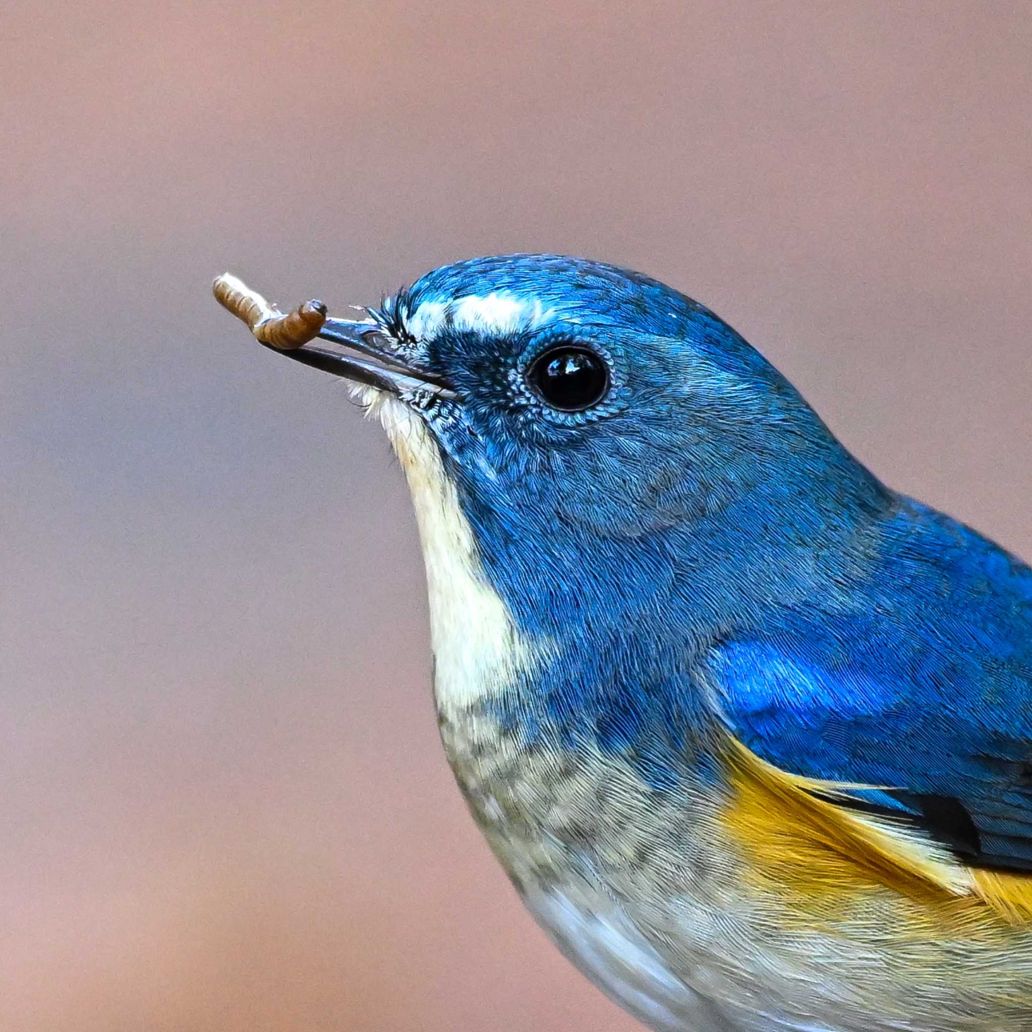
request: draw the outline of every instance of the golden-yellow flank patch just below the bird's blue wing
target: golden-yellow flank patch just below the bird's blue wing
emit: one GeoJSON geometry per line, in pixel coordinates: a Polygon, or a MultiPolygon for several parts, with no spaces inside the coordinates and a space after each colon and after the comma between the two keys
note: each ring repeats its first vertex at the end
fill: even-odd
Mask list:
{"type": "Polygon", "coordinates": [[[788,774],[733,738],[728,744],[723,823],[759,878],[824,897],[877,885],[923,898],[975,891],[974,872],[920,834],[813,795],[841,795],[848,785],[788,774]]]}

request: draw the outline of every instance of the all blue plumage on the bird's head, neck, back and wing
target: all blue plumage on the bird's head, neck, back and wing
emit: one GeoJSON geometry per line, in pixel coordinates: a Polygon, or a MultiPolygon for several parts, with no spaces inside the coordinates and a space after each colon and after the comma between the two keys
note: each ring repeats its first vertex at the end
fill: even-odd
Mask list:
{"type": "Polygon", "coordinates": [[[479,259],[380,318],[405,338],[424,302],[491,294],[547,316],[503,333],[445,317],[421,346],[466,399],[438,437],[485,575],[521,631],[563,643],[497,702],[506,724],[623,752],[663,786],[725,720],[953,844],[924,797],[957,800],[969,859],[1032,866],[1032,571],[881,485],[738,333],[646,277],[479,259]],[[566,338],[612,363],[600,412],[511,390],[566,338]]]}

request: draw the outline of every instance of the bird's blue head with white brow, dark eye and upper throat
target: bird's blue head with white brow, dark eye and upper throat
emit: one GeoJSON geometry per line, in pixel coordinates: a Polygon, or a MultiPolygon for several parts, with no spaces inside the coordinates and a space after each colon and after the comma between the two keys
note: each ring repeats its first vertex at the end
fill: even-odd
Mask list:
{"type": "Polygon", "coordinates": [[[370,317],[341,336],[367,357],[337,372],[406,470],[431,605],[464,567],[538,632],[675,595],[719,616],[786,590],[772,556],[812,551],[877,491],[738,333],[647,277],[474,259],[370,317]]]}

